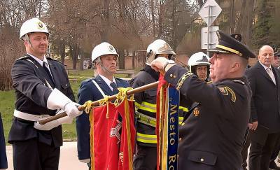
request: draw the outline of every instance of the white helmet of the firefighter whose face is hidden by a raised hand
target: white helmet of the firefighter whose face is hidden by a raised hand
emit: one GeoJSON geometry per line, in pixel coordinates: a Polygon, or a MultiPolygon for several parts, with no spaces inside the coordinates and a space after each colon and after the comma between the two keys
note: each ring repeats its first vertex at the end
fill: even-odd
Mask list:
{"type": "Polygon", "coordinates": [[[151,65],[151,62],[155,59],[156,55],[164,55],[167,54],[169,55],[169,59],[171,58],[172,55],[176,55],[176,53],[172,50],[170,45],[161,40],[155,40],[153,43],[148,45],[147,48],[147,57],[146,57],[146,64],[151,65]]]}

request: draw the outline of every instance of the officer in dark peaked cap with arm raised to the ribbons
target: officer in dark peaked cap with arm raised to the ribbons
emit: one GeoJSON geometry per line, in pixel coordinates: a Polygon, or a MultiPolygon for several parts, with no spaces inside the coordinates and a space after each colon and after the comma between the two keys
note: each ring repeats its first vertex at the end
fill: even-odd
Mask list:
{"type": "Polygon", "coordinates": [[[180,129],[179,169],[237,170],[249,120],[251,90],[244,72],[248,57],[255,57],[245,45],[217,31],[219,43],[209,60],[207,84],[177,64],[159,57],[151,66],[165,72],[165,80],[184,97],[199,105],[180,129]]]}

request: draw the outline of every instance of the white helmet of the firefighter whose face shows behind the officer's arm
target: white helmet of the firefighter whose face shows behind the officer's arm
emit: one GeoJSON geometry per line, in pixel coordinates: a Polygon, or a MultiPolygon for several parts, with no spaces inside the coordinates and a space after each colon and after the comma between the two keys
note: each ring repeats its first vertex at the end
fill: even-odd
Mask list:
{"type": "Polygon", "coordinates": [[[190,56],[188,59],[188,66],[190,66],[190,72],[195,73],[196,66],[210,66],[209,56],[204,54],[204,52],[197,52],[190,56]]]}

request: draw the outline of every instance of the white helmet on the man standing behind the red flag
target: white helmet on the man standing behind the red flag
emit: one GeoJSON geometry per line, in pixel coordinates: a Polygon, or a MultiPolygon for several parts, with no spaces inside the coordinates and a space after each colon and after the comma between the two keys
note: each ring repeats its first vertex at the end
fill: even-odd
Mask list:
{"type": "Polygon", "coordinates": [[[102,55],[116,55],[118,57],[118,53],[116,49],[113,47],[113,45],[103,42],[99,45],[96,45],[92,50],[92,62],[94,62],[95,59],[102,55]]]}

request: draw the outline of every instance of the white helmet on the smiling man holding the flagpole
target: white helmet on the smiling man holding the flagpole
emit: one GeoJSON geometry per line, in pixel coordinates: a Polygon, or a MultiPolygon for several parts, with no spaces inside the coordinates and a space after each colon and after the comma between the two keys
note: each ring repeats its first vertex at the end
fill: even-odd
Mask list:
{"type": "Polygon", "coordinates": [[[45,24],[41,22],[41,20],[39,20],[37,17],[23,22],[22,27],[20,27],[20,40],[22,40],[22,37],[25,36],[25,34],[32,32],[43,32],[45,34],[48,34],[48,36],[50,34],[45,24]]]}

